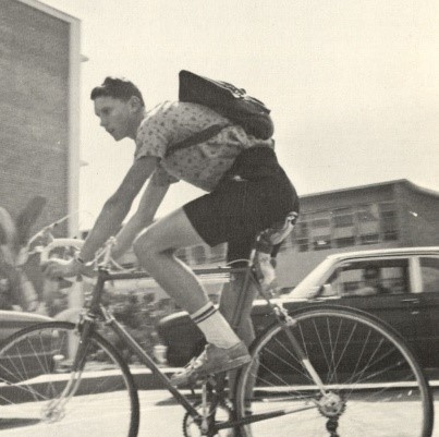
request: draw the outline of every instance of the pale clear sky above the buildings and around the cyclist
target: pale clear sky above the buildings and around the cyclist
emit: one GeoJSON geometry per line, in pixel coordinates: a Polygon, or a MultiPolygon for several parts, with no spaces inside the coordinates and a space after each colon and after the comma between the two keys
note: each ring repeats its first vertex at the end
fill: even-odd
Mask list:
{"type": "MultiPolygon", "coordinates": [[[[101,128],[90,89],[125,76],[147,108],[178,73],[231,82],[271,109],[300,195],[407,179],[439,192],[437,0],[44,0],[81,20],[80,227],[133,162],[101,128]],[[93,187],[93,190],[90,190],[93,187]]],[[[178,183],[158,216],[202,192],[178,183]]]]}

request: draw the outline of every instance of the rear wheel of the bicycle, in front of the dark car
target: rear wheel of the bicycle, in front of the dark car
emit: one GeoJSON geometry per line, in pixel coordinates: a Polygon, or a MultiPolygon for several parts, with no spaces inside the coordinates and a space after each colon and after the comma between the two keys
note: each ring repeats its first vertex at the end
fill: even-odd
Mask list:
{"type": "Polygon", "coordinates": [[[244,436],[269,436],[273,427],[278,435],[301,437],[431,436],[428,384],[392,328],[334,306],[292,318],[255,341],[253,361],[241,372],[237,416],[276,417],[243,426],[244,436]]]}

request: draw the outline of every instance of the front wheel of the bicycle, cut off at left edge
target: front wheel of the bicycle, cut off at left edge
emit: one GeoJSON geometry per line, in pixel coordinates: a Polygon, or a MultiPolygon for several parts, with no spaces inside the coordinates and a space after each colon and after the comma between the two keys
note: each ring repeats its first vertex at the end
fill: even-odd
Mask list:
{"type": "Polygon", "coordinates": [[[114,347],[90,335],[82,372],[72,372],[78,333],[70,323],[25,328],[0,348],[2,436],[135,437],[138,397],[114,347]]]}

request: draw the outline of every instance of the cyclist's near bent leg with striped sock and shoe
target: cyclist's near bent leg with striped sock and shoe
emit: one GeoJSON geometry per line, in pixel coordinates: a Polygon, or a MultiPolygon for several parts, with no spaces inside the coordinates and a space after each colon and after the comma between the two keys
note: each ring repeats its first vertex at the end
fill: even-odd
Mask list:
{"type": "Polygon", "coordinates": [[[175,256],[180,247],[203,243],[182,208],[151,224],[134,242],[141,265],[190,313],[208,342],[204,354],[173,377],[175,385],[225,372],[249,361],[246,347],[209,301],[194,272],[175,256]]]}

